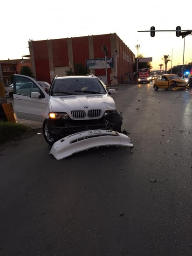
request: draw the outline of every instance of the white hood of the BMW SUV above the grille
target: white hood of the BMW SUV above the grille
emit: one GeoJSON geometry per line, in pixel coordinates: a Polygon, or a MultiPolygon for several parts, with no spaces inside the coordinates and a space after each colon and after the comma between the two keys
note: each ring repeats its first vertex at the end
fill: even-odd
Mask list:
{"type": "Polygon", "coordinates": [[[82,109],[116,109],[115,102],[108,94],[105,95],[72,95],[65,97],[49,97],[49,110],[53,112],[70,112],[82,109]]]}

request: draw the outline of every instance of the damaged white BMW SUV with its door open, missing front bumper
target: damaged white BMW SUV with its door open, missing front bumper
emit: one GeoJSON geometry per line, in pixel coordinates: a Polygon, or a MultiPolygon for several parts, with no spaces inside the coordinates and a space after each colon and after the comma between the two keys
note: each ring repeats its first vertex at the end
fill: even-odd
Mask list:
{"type": "Polygon", "coordinates": [[[121,131],[122,115],[96,76],[55,77],[49,94],[31,77],[14,75],[14,105],[17,118],[43,122],[48,144],[70,134],[95,129],[121,131]],[[25,86],[17,87],[17,83],[25,86]]]}

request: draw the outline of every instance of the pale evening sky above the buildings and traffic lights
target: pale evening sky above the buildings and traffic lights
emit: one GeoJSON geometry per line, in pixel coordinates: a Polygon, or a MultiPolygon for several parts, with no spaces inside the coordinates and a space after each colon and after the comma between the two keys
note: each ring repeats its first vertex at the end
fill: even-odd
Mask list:
{"type": "Polygon", "coordinates": [[[9,0],[0,2],[0,60],[21,59],[29,55],[29,40],[47,40],[116,33],[137,56],[152,57],[153,69],[164,64],[167,69],[192,62],[192,35],[185,39],[175,30],[192,30],[192,0],[9,0]],[[185,51],[184,51],[185,46],[185,51]],[[183,58],[184,57],[184,58],[183,58]]]}

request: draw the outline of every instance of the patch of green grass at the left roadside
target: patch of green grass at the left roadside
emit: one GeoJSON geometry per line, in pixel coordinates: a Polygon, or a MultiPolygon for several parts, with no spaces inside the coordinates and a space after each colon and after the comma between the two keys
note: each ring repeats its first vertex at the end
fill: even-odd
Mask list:
{"type": "Polygon", "coordinates": [[[0,121],[0,143],[18,138],[27,131],[27,126],[0,121]]]}

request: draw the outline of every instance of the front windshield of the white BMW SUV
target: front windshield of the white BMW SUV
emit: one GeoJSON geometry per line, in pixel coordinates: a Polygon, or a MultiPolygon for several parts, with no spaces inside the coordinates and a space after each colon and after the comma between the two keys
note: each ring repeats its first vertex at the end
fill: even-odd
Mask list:
{"type": "Polygon", "coordinates": [[[50,91],[51,96],[103,93],[106,93],[103,84],[93,77],[55,78],[50,91]]]}

